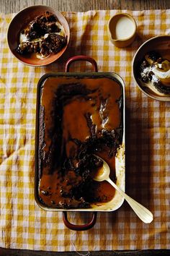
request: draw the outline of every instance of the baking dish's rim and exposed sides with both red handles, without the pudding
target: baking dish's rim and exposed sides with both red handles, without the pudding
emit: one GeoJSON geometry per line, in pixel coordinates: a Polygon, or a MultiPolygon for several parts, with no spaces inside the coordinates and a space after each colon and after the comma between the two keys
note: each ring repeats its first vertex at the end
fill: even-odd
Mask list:
{"type": "Polygon", "coordinates": [[[70,59],[68,59],[68,61],[66,62],[66,67],[65,67],[66,72],[53,72],[53,73],[48,73],[48,74],[44,74],[38,84],[37,84],[37,107],[36,107],[36,136],[35,136],[35,201],[37,202],[37,205],[40,206],[40,208],[42,208],[43,210],[50,210],[50,211],[61,211],[63,212],[63,222],[65,223],[65,225],[68,227],[68,229],[72,229],[72,230],[76,230],[76,231],[83,231],[83,230],[87,230],[87,229],[91,229],[92,226],[94,226],[94,224],[97,221],[97,212],[110,212],[110,211],[114,211],[117,210],[118,208],[120,208],[120,206],[122,205],[124,198],[119,194],[119,192],[115,191],[115,196],[113,197],[113,199],[111,201],[109,201],[109,203],[111,204],[112,201],[114,201],[115,203],[115,207],[109,207],[107,206],[107,203],[103,203],[100,206],[97,205],[93,205],[91,204],[91,206],[93,205],[93,207],[88,208],[88,209],[61,209],[61,208],[48,208],[47,206],[43,205],[40,200],[39,200],[39,196],[38,196],[38,182],[40,180],[40,173],[39,173],[39,168],[38,168],[38,142],[39,142],[39,110],[40,110],[40,93],[41,93],[41,88],[43,85],[43,82],[45,82],[45,80],[48,79],[48,77],[107,77],[110,78],[112,80],[116,80],[117,82],[119,82],[119,84],[121,85],[121,89],[122,89],[122,124],[123,124],[123,134],[122,134],[122,148],[120,148],[119,153],[119,157],[122,158],[122,160],[120,161],[117,157],[115,158],[116,161],[116,167],[115,167],[115,171],[116,171],[116,176],[117,176],[117,182],[120,182],[120,184],[118,183],[118,187],[120,187],[123,191],[125,191],[125,84],[122,80],[122,78],[114,73],[114,72],[97,72],[97,63],[96,61],[94,61],[94,59],[92,59],[89,56],[73,56],[70,59]],[[72,64],[72,62],[74,61],[89,61],[91,62],[94,71],[95,72],[69,72],[69,68],[72,64]],[[120,175],[121,175],[121,179],[120,179],[120,175]],[[95,207],[95,208],[94,208],[95,207]],[[84,225],[76,225],[76,224],[72,224],[68,221],[67,218],[67,212],[92,212],[92,217],[91,217],[91,221],[89,221],[89,223],[86,223],[84,225]]]}

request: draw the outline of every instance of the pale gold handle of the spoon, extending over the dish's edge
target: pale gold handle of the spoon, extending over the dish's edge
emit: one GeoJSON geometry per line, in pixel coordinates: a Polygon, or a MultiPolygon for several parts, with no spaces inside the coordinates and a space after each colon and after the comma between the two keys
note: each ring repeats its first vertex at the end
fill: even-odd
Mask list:
{"type": "Polygon", "coordinates": [[[134,212],[140,218],[140,220],[142,220],[144,223],[151,223],[151,221],[153,221],[153,214],[150,210],[145,208],[143,205],[140,205],[140,203],[136,202],[133,198],[126,195],[125,192],[117,187],[117,185],[112,182],[111,179],[108,178],[107,182],[109,182],[109,184],[111,184],[113,187],[115,187],[115,189],[117,189],[118,192],[120,192],[120,194],[125,198],[131,208],[133,208],[134,212]]]}

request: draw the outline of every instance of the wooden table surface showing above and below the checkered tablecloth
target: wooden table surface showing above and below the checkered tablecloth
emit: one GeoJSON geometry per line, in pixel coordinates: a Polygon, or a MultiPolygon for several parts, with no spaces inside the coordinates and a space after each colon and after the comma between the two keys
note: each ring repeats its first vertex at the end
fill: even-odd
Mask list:
{"type": "MultiPolygon", "coordinates": [[[[86,12],[92,9],[131,9],[131,10],[143,10],[143,9],[170,9],[169,0],[0,0],[0,12],[12,13],[19,12],[25,7],[35,4],[45,4],[50,7],[58,9],[59,12],[86,12]]],[[[0,238],[1,239],[1,238],[0,238]]],[[[86,252],[81,252],[86,255],[86,252]]],[[[4,249],[0,248],[0,256],[76,256],[77,252],[40,252],[30,251],[25,249],[4,249]]],[[[140,250],[140,251],[107,251],[107,252],[90,252],[89,256],[155,256],[170,255],[170,250],[158,249],[158,250],[140,250]]]]}

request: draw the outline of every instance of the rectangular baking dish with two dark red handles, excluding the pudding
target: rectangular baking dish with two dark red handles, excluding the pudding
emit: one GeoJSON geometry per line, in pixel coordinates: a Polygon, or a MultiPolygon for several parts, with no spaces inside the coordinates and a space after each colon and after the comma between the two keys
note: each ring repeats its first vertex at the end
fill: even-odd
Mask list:
{"type": "MultiPolygon", "coordinates": [[[[102,212],[109,212],[113,210],[117,210],[122,205],[124,198],[120,195],[119,192],[115,191],[115,196],[109,202],[100,202],[100,203],[91,203],[91,208],[77,208],[77,209],[61,209],[61,208],[50,208],[45,206],[39,197],[38,189],[40,184],[40,177],[41,177],[41,170],[40,170],[40,106],[41,106],[41,95],[42,95],[42,88],[45,80],[49,77],[89,77],[92,79],[99,78],[99,77],[107,77],[110,80],[116,80],[120,86],[122,91],[122,103],[121,103],[121,116],[122,116],[122,143],[120,145],[119,150],[117,150],[117,155],[115,156],[115,174],[117,177],[117,186],[125,192],[125,85],[122,78],[113,72],[97,72],[97,64],[95,63],[94,59],[86,56],[75,56],[71,59],[68,59],[66,63],[66,72],[56,72],[56,73],[49,73],[45,74],[40,78],[40,81],[37,85],[37,112],[36,112],[36,137],[35,137],[35,200],[37,205],[44,210],[53,210],[53,211],[62,211],[63,212],[63,220],[66,226],[70,229],[74,230],[84,230],[89,229],[91,226],[94,225],[96,220],[96,214],[93,216],[93,223],[92,225],[87,225],[83,229],[76,228],[73,226],[69,226],[67,223],[67,211],[86,211],[86,212],[93,212],[96,213],[97,211],[102,212]],[[95,72],[69,72],[69,66],[73,61],[90,61],[94,67],[95,72]]],[[[74,225],[76,226],[76,225],[74,225]]]]}

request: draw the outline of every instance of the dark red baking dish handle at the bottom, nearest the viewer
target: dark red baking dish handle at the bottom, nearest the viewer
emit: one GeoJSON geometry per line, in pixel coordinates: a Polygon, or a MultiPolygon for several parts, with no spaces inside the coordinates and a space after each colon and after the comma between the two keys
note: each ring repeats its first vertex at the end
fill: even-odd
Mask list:
{"type": "Polygon", "coordinates": [[[72,224],[68,221],[67,212],[66,211],[63,212],[63,223],[66,225],[68,229],[71,229],[71,230],[84,231],[84,230],[91,229],[96,223],[96,221],[97,221],[97,212],[93,212],[91,221],[89,223],[86,223],[84,225],[72,224]]]}

